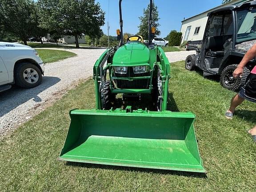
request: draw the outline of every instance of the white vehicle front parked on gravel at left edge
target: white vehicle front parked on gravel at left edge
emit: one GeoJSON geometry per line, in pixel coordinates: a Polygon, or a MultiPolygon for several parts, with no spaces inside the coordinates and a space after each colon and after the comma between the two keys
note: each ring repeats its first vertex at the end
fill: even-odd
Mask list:
{"type": "Polygon", "coordinates": [[[17,43],[0,42],[0,92],[16,84],[33,88],[41,84],[44,63],[35,49],[17,43]]]}

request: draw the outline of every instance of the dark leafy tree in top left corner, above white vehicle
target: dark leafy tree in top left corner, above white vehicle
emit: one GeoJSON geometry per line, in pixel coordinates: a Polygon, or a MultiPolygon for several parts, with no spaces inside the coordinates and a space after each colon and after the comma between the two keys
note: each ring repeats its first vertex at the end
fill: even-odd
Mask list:
{"type": "Polygon", "coordinates": [[[37,27],[36,3],[32,0],[0,0],[0,24],[3,33],[27,40],[37,27]]]}

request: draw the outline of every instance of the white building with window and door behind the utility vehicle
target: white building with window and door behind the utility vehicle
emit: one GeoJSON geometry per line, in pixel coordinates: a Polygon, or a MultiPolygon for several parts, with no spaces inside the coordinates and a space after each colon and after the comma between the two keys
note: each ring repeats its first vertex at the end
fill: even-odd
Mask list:
{"type": "Polygon", "coordinates": [[[216,8],[212,8],[206,12],[202,12],[199,15],[192,16],[188,19],[183,20],[181,23],[180,32],[182,32],[181,43],[188,40],[202,40],[204,37],[204,30],[208,20],[208,12],[212,12],[215,9],[222,8],[232,4],[239,4],[242,2],[251,1],[251,0],[224,0],[225,4],[221,4],[216,8]]]}

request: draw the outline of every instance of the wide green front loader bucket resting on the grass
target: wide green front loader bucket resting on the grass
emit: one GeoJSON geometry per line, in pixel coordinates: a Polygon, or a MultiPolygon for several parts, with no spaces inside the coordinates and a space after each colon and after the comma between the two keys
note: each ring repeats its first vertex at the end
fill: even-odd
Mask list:
{"type": "Polygon", "coordinates": [[[206,172],[192,113],[76,109],[70,116],[60,160],[206,172]]]}

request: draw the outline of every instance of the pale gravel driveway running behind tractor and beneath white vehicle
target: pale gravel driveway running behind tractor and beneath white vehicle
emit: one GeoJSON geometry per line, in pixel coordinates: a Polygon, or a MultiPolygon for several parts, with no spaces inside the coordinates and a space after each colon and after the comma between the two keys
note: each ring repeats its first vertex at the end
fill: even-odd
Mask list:
{"type": "MultiPolygon", "coordinates": [[[[48,48],[49,49],[49,48],[48,48]]],[[[60,49],[59,49],[60,50],[60,49]]],[[[77,54],[45,65],[43,82],[36,88],[12,88],[0,93],[0,136],[13,131],[49,104],[60,99],[79,80],[92,76],[92,68],[104,49],[63,49],[77,54]]],[[[167,52],[170,62],[185,60],[193,51],[167,52]]]]}

